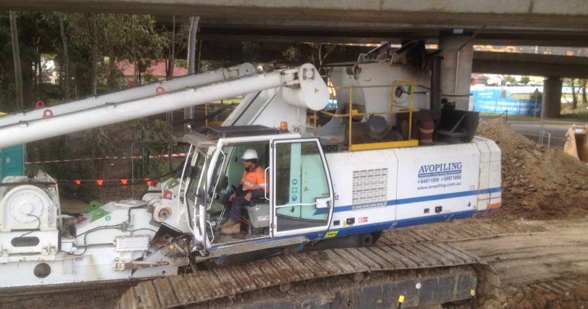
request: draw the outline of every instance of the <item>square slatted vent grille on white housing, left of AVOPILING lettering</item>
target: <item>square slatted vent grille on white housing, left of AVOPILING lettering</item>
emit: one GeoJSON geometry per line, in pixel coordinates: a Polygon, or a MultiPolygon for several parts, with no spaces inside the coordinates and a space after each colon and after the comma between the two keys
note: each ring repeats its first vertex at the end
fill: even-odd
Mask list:
{"type": "Polygon", "coordinates": [[[353,210],[386,207],[387,191],[387,168],[353,171],[353,210]]]}

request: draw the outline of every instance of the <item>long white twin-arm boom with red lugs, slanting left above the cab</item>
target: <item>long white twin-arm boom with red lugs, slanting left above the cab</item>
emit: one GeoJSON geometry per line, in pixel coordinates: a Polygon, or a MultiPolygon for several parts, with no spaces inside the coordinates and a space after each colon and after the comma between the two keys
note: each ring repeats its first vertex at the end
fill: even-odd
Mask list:
{"type": "Polygon", "coordinates": [[[292,100],[303,100],[289,104],[322,108],[328,101],[326,85],[310,64],[243,77],[251,74],[251,69],[250,65],[219,69],[211,74],[201,74],[203,77],[195,75],[175,83],[165,82],[161,86],[150,85],[12,115],[6,119],[2,117],[0,148],[280,86],[291,88],[296,93],[292,95],[292,100]],[[193,88],[183,89],[186,87],[193,88]]]}

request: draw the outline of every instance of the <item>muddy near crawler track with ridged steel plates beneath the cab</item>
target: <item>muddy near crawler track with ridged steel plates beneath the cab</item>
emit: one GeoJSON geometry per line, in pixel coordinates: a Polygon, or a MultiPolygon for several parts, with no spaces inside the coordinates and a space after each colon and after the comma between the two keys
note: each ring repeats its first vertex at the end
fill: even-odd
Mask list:
{"type": "MultiPolygon", "coordinates": [[[[492,281],[494,286],[498,284],[497,278],[492,276],[492,271],[482,260],[447,244],[407,244],[312,251],[145,281],[127,291],[119,301],[118,308],[172,308],[195,304],[208,307],[208,301],[233,297],[240,293],[270,287],[288,287],[293,283],[306,283],[324,278],[333,280],[345,275],[362,278],[364,273],[379,274],[386,271],[443,269],[447,270],[446,275],[453,276],[449,280],[457,281],[457,277],[462,275],[467,277],[459,277],[459,280],[471,281],[473,289],[476,290],[478,276],[475,271],[470,275],[456,273],[455,270],[455,267],[474,266],[480,271],[486,267],[483,270],[486,273],[486,280],[492,281]]],[[[436,276],[432,280],[439,281],[437,278],[442,277],[442,274],[436,276]]],[[[417,277],[415,274],[412,275],[412,279],[417,277]]],[[[467,284],[464,287],[463,291],[451,290],[449,294],[453,294],[453,298],[430,301],[467,299],[472,287],[467,284]]],[[[424,304],[423,300],[417,300],[417,303],[424,304]]]]}

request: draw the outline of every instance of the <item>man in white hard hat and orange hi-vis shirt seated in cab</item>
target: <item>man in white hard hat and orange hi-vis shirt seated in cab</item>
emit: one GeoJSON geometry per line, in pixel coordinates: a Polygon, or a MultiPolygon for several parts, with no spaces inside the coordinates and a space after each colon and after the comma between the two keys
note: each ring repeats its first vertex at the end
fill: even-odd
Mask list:
{"type": "Polygon", "coordinates": [[[255,149],[247,149],[243,154],[245,172],[239,187],[229,196],[230,220],[220,225],[220,233],[231,235],[241,231],[240,215],[243,206],[249,205],[252,199],[264,197],[268,193],[268,185],[265,182],[265,172],[258,164],[258,153],[255,149]]]}

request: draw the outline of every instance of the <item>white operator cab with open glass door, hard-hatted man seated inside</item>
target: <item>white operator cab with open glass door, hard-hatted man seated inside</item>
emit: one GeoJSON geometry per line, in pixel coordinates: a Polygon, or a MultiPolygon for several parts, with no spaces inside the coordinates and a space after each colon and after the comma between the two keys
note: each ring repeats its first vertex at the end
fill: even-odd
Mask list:
{"type": "Polygon", "coordinates": [[[299,134],[256,125],[207,128],[201,134],[186,134],[183,140],[196,149],[187,170],[188,217],[195,233],[198,229],[210,248],[327,230],[333,190],[317,138],[300,138],[299,134]],[[229,211],[225,207],[228,197],[243,177],[242,157],[247,149],[258,153],[269,192],[236,214],[241,222],[239,234],[223,235],[218,227],[229,211]],[[201,217],[206,218],[205,223],[201,217]]]}

